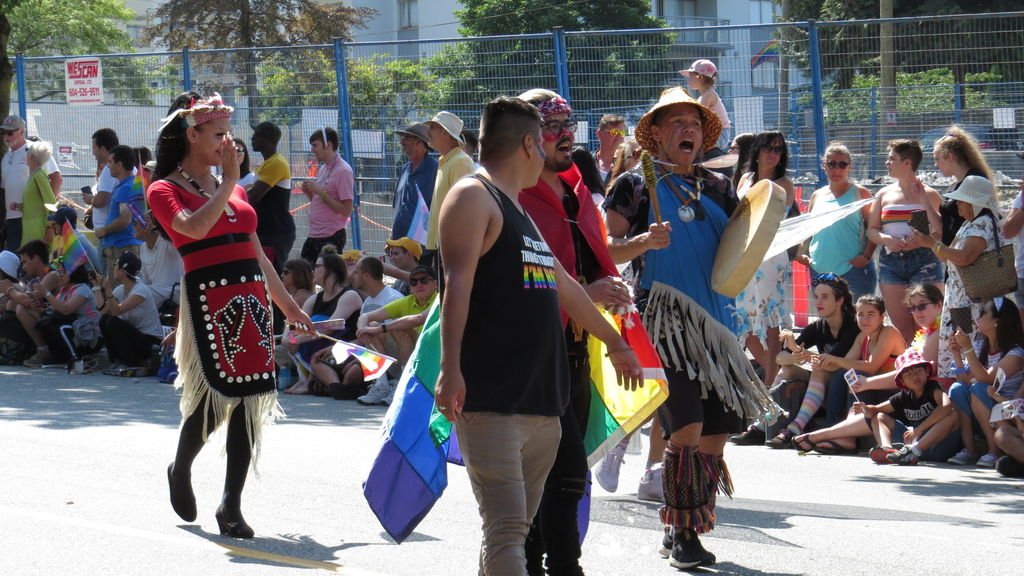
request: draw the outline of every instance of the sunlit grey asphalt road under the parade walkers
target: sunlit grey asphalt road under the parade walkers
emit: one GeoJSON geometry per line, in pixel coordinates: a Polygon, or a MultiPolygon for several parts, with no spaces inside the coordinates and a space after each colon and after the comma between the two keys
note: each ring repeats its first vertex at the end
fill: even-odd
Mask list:
{"type": "MultiPolygon", "coordinates": [[[[153,378],[0,369],[0,575],[470,575],[480,531],[465,472],[403,544],[361,495],[384,408],[284,397],[243,509],[257,537],[217,533],[223,438],[193,478],[200,517],[182,523],[166,466],[178,396],[153,378]]],[[[1022,574],[1024,482],[992,470],[877,466],[866,457],[762,447],[727,452],[735,498],[703,538],[708,574],[1022,574]]],[[[617,494],[595,486],[587,574],[672,574],[657,505],[635,498],[643,458],[617,494]],[[631,493],[632,491],[632,493],[631,493]]]]}

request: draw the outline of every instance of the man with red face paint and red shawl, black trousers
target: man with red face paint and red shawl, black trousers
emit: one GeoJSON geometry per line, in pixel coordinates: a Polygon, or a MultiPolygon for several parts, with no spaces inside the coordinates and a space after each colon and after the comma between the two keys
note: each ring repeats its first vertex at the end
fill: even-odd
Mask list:
{"type": "MultiPolygon", "coordinates": [[[[537,186],[523,189],[519,202],[534,219],[545,242],[565,271],[600,305],[633,304],[629,289],[617,279],[601,228],[600,212],[572,163],[572,108],[551,90],[519,94],[541,113],[544,169],[537,186]]],[[[569,366],[569,406],[561,415],[558,455],[548,474],[541,509],[526,539],[530,574],[582,574],[575,509],[587,488],[587,451],[583,439],[590,412],[589,336],[562,313],[569,366]]]]}

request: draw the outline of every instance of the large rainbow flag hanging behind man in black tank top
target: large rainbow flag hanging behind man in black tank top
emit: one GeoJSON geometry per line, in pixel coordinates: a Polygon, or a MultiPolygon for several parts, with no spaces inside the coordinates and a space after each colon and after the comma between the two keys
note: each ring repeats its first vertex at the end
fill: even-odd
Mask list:
{"type": "MultiPolygon", "coordinates": [[[[599,460],[636,429],[668,398],[668,382],[657,355],[636,313],[625,321],[605,315],[634,347],[644,367],[644,386],[628,392],[615,382],[603,344],[592,338],[591,387],[594,392],[585,435],[588,459],[599,460]]],[[[413,533],[447,487],[447,462],[461,463],[452,423],[434,404],[440,364],[440,312],[434,302],[402,372],[394,401],[384,417],[383,443],[362,494],[384,530],[401,542],[413,533]]],[[[589,500],[581,502],[581,509],[589,500]]],[[[581,511],[585,515],[585,511],[581,511]]],[[[585,520],[585,519],[582,519],[585,520]]],[[[581,533],[585,532],[582,527],[581,533]]]]}

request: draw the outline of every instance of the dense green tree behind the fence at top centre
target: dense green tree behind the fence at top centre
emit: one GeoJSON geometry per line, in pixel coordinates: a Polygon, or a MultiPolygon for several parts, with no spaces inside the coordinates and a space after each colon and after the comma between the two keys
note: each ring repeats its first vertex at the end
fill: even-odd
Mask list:
{"type": "MultiPolygon", "coordinates": [[[[492,36],[549,32],[657,29],[649,0],[463,0],[456,12],[460,32],[492,36]]],[[[674,70],[668,34],[598,37],[570,36],[567,41],[571,97],[577,107],[595,108],[634,101],[638,93],[653,95],[674,70]]],[[[444,48],[427,66],[438,78],[449,101],[479,106],[500,93],[535,87],[557,88],[551,40],[469,40],[444,48]]]]}

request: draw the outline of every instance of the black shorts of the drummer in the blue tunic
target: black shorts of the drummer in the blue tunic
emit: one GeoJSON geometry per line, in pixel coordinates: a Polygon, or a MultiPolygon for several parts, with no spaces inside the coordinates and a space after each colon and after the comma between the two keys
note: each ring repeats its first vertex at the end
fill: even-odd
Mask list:
{"type": "Polygon", "coordinates": [[[703,422],[700,436],[735,434],[743,430],[743,419],[726,407],[714,390],[700,398],[700,382],[691,380],[685,370],[666,366],[669,398],[657,409],[662,434],[666,440],[672,433],[694,422],[703,422]]]}

